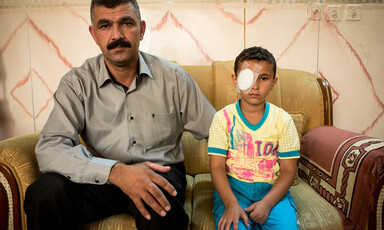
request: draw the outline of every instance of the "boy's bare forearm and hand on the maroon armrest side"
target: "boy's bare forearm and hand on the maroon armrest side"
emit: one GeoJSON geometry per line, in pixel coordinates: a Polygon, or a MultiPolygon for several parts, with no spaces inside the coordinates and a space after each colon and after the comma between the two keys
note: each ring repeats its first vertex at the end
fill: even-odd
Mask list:
{"type": "Polygon", "coordinates": [[[263,224],[267,221],[270,210],[285,196],[291,187],[297,171],[297,159],[282,159],[280,158],[280,175],[276,179],[275,184],[265,197],[252,204],[245,209],[246,212],[251,212],[249,218],[263,224]]]}

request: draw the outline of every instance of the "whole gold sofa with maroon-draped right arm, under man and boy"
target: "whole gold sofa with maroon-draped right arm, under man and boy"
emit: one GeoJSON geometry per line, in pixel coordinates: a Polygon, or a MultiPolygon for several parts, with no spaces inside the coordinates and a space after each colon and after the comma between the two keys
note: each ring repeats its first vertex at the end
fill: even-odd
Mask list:
{"type": "MultiPolygon", "coordinates": [[[[234,103],[233,61],[182,66],[217,109],[234,103]]],[[[332,94],[326,79],[308,72],[278,69],[268,101],[294,119],[301,138],[298,173],[291,194],[301,229],[381,229],[384,200],[384,141],[333,126],[332,94]]],[[[41,174],[35,157],[39,132],[0,142],[0,229],[27,229],[26,188],[41,174]]],[[[182,137],[187,169],[185,210],[189,229],[214,229],[213,185],[206,140],[182,137]]],[[[119,214],[81,229],[136,229],[119,214]]]]}

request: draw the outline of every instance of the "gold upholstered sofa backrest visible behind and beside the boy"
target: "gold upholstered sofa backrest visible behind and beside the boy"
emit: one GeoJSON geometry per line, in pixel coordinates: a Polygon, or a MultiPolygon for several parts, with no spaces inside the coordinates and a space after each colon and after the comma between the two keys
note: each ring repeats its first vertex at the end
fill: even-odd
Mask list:
{"type": "MultiPolygon", "coordinates": [[[[210,66],[182,66],[197,82],[216,110],[234,103],[239,95],[232,83],[234,61],[215,61],[210,66]]],[[[278,68],[279,78],[267,101],[287,112],[304,112],[303,134],[310,129],[332,125],[332,96],[328,81],[314,74],[278,68]]],[[[209,173],[207,142],[185,132],[182,138],[187,173],[209,173]]]]}

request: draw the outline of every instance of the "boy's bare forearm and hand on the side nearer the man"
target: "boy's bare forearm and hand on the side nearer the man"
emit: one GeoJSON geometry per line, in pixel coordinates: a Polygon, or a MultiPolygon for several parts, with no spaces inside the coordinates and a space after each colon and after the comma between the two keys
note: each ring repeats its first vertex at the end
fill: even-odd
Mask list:
{"type": "Polygon", "coordinates": [[[225,206],[225,211],[219,221],[218,229],[229,229],[233,224],[234,230],[237,230],[240,218],[243,218],[247,226],[249,220],[229,185],[225,170],[225,160],[226,158],[224,156],[210,155],[212,182],[225,206]]]}

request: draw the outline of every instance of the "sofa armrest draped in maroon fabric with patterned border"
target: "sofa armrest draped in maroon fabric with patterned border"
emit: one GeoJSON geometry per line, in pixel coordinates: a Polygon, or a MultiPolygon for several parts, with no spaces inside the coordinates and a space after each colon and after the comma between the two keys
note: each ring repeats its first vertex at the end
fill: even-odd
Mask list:
{"type": "Polygon", "coordinates": [[[303,136],[300,155],[299,176],[338,209],[344,228],[363,229],[383,187],[384,140],[321,126],[303,136]]]}

